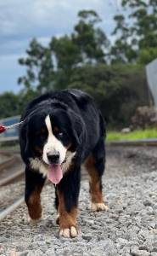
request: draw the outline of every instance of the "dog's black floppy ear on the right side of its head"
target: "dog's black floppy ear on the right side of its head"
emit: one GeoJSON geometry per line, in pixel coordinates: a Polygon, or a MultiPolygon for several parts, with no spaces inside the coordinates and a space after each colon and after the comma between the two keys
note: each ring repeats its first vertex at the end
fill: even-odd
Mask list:
{"type": "Polygon", "coordinates": [[[76,143],[76,151],[78,151],[78,149],[81,150],[82,144],[86,137],[85,124],[81,117],[71,110],[68,110],[68,116],[70,119],[71,133],[76,143]]]}

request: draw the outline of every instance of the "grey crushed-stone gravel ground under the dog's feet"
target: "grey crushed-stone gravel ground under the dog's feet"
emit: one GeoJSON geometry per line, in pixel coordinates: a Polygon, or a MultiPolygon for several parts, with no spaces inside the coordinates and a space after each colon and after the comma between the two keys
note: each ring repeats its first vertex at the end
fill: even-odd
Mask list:
{"type": "Polygon", "coordinates": [[[59,238],[53,186],[42,193],[43,220],[27,222],[25,205],[0,224],[0,255],[157,256],[157,149],[108,148],[104,195],[108,212],[90,212],[81,182],[79,236],[59,238]]]}

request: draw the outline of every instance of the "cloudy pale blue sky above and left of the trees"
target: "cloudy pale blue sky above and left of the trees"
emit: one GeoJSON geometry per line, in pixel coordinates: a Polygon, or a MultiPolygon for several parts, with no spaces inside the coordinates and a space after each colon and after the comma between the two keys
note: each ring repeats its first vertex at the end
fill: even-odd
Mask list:
{"type": "MultiPolygon", "coordinates": [[[[47,45],[52,36],[69,34],[81,9],[94,9],[110,38],[113,16],[121,12],[121,0],[0,0],[0,94],[18,92],[17,79],[25,74],[18,59],[25,56],[31,38],[47,45]]],[[[112,40],[112,38],[110,38],[112,40]]]]}

